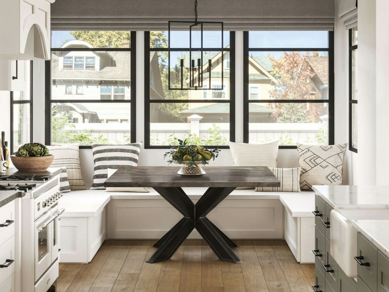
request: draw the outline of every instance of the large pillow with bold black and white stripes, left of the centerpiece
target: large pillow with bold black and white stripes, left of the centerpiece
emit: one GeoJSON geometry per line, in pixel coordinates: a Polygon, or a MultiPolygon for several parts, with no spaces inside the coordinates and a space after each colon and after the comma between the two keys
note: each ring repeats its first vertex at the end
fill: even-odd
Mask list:
{"type": "Polygon", "coordinates": [[[92,144],[94,174],[91,190],[105,189],[108,168],[119,169],[125,166],[138,166],[141,143],[126,145],[92,144]]]}

